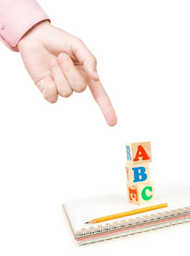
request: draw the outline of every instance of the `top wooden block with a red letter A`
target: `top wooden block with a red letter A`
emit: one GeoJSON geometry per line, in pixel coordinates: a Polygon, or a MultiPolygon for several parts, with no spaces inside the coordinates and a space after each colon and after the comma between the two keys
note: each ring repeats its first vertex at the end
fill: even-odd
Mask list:
{"type": "Polygon", "coordinates": [[[139,164],[139,163],[151,163],[152,152],[151,144],[149,142],[136,142],[125,144],[127,163],[139,164]]]}

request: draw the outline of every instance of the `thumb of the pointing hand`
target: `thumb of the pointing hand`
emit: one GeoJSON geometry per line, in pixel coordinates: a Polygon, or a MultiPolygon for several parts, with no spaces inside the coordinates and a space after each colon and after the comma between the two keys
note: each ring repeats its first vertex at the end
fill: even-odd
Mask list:
{"type": "Polygon", "coordinates": [[[85,73],[93,81],[99,81],[97,72],[97,61],[95,56],[89,51],[79,38],[74,38],[71,47],[78,61],[83,65],[85,73]]]}

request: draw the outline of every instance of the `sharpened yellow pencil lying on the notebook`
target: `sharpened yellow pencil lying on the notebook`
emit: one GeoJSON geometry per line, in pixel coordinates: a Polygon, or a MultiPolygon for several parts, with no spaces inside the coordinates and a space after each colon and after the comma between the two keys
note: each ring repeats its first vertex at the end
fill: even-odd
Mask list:
{"type": "Polygon", "coordinates": [[[167,207],[167,204],[153,205],[153,206],[149,206],[149,207],[145,207],[145,208],[141,208],[141,209],[135,209],[135,210],[132,210],[129,212],[122,212],[122,213],[118,213],[118,214],[114,214],[114,215],[105,216],[102,218],[96,218],[94,220],[86,222],[85,224],[109,221],[109,220],[113,220],[115,218],[122,218],[122,217],[126,217],[129,215],[134,215],[134,214],[138,214],[138,213],[142,213],[142,212],[148,212],[148,211],[152,211],[152,210],[156,210],[156,209],[160,209],[160,208],[164,208],[164,207],[167,207]]]}

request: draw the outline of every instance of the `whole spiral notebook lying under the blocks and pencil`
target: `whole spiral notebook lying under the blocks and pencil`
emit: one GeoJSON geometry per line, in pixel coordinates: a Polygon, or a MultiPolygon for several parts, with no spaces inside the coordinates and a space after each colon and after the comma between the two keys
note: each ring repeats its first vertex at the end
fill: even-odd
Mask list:
{"type": "MultiPolygon", "coordinates": [[[[128,203],[127,192],[66,201],[68,223],[79,245],[111,240],[144,231],[186,223],[190,226],[190,187],[181,184],[155,186],[156,202],[143,206],[128,203]],[[127,212],[155,204],[168,207],[98,224],[85,224],[94,218],[127,212]],[[189,223],[187,223],[189,222],[189,223]]],[[[185,224],[184,224],[185,225],[185,224]]],[[[164,232],[164,231],[163,231],[164,232]]]]}

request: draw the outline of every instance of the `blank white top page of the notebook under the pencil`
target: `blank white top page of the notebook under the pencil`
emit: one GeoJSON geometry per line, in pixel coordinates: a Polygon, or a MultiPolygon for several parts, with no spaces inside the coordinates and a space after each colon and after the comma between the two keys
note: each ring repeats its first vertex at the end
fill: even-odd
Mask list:
{"type": "MultiPolygon", "coordinates": [[[[150,204],[145,204],[138,206],[135,204],[128,203],[127,191],[101,195],[91,198],[83,198],[72,201],[66,201],[64,203],[65,209],[68,214],[68,218],[71,221],[71,225],[76,233],[76,231],[81,228],[97,226],[99,224],[85,224],[85,222],[90,221],[94,218],[104,217],[108,215],[117,214],[120,212],[127,212],[133,209],[139,209],[143,207],[148,207],[156,204],[167,203],[168,207],[157,209],[150,212],[140,213],[137,215],[131,215],[123,218],[117,218],[119,220],[128,220],[129,218],[136,218],[143,215],[150,215],[152,213],[164,212],[172,209],[189,207],[190,206],[190,187],[179,183],[155,186],[156,201],[150,204]]],[[[113,223],[115,220],[110,220],[106,222],[101,222],[100,224],[113,223]]]]}

